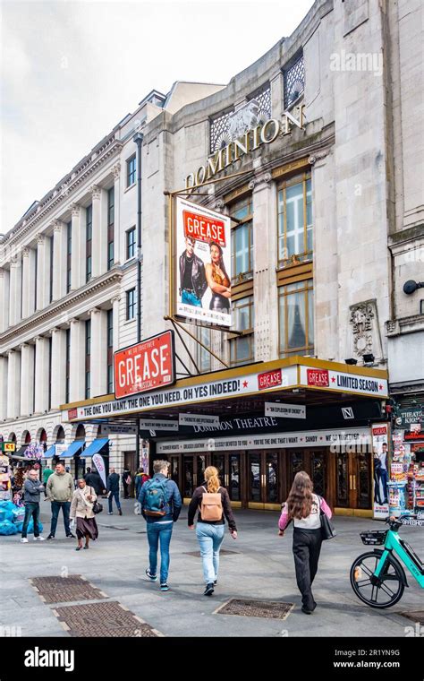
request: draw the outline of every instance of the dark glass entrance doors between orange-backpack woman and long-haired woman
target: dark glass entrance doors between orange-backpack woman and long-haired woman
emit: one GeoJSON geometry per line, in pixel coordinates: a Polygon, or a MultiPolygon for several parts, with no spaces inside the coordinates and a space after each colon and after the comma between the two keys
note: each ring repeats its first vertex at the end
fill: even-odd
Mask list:
{"type": "Polygon", "coordinates": [[[248,505],[280,508],[278,452],[248,452],[248,505]]]}

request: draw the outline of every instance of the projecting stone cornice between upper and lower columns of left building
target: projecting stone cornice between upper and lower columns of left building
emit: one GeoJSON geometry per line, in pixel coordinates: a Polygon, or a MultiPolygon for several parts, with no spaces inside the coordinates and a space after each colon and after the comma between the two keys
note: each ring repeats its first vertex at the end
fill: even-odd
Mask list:
{"type": "MultiPolygon", "coordinates": [[[[72,306],[75,306],[76,303],[80,302],[81,300],[88,299],[97,291],[112,287],[114,284],[119,284],[122,278],[123,272],[120,268],[112,269],[109,272],[102,274],[97,279],[90,280],[89,283],[81,289],[71,291],[66,297],[55,301],[55,303],[44,308],[43,310],[39,310],[37,313],[31,315],[23,322],[15,324],[13,327],[7,329],[6,332],[0,334],[0,353],[7,352],[8,346],[14,344],[13,340],[18,335],[21,335],[25,332],[30,332],[31,330],[38,327],[40,322],[48,322],[49,320],[55,319],[58,314],[69,311],[69,309],[72,308],[72,306]]],[[[111,293],[112,297],[116,296],[115,291],[112,291],[111,293]]],[[[57,321],[55,321],[53,325],[57,326],[57,321]]]]}

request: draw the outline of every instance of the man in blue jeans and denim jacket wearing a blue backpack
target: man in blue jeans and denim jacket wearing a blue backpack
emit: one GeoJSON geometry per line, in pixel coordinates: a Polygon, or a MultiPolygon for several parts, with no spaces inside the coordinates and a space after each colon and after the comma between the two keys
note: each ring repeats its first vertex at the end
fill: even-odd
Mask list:
{"type": "Polygon", "coordinates": [[[182,508],[180,490],[168,478],[168,461],[154,461],[154,476],[140,488],[139,502],[148,523],[149,566],[146,575],[157,581],[157,549],[160,543],[160,590],[168,591],[169,545],[182,508]]]}

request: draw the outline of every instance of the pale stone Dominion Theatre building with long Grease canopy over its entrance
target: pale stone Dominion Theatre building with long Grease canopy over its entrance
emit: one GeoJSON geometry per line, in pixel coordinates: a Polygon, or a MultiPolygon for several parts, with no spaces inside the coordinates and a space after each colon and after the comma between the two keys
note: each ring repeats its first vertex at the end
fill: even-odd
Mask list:
{"type": "MultiPolygon", "coordinates": [[[[140,419],[142,461],[171,461],[185,498],[212,463],[234,504],[277,508],[307,470],[337,513],[371,513],[371,429],[388,420],[387,244],[403,134],[387,82],[409,101],[403,55],[417,44],[400,13],[318,0],[228,85],[142,129],[142,337],[174,329],[177,380],[73,401],[62,418],[140,419]],[[178,307],[182,289],[196,294],[181,278],[181,198],[230,220],[226,331],[208,311],[202,323],[178,307]]],[[[412,173],[409,196],[417,183],[412,173]]]]}

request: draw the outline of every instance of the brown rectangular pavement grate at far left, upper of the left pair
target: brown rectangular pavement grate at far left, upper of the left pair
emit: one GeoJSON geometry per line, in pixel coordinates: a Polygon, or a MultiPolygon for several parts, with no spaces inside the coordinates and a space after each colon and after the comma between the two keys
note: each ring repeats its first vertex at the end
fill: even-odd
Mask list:
{"type": "Polygon", "coordinates": [[[67,577],[33,577],[30,583],[45,603],[106,599],[106,593],[92,586],[81,574],[67,577]]]}

